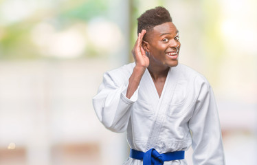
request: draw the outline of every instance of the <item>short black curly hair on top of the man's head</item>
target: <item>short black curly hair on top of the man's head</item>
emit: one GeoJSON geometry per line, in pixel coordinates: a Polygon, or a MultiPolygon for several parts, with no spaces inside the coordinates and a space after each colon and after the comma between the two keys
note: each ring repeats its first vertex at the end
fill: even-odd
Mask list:
{"type": "Polygon", "coordinates": [[[170,13],[166,8],[157,6],[153,9],[146,10],[146,12],[137,18],[137,34],[142,32],[142,30],[146,30],[146,32],[153,30],[156,25],[166,22],[172,22],[170,13]]]}

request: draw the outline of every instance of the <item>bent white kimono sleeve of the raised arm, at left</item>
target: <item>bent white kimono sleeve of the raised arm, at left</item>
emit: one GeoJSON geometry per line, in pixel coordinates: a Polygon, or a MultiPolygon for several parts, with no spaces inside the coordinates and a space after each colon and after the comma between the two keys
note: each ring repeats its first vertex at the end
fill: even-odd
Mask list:
{"type": "Polygon", "coordinates": [[[129,123],[131,105],[137,100],[138,89],[131,99],[126,98],[129,78],[107,72],[104,74],[98,94],[93,98],[93,107],[98,119],[114,132],[124,132],[129,123]]]}

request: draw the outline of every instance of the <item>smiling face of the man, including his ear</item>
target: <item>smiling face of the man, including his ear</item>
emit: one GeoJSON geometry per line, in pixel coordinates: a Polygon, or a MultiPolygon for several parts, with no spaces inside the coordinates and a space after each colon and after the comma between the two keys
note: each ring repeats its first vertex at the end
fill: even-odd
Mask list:
{"type": "MultiPolygon", "coordinates": [[[[147,32],[146,32],[147,33],[147,32]]],[[[180,49],[179,31],[172,22],[157,25],[148,32],[144,48],[149,52],[150,65],[175,67],[180,49]]]]}

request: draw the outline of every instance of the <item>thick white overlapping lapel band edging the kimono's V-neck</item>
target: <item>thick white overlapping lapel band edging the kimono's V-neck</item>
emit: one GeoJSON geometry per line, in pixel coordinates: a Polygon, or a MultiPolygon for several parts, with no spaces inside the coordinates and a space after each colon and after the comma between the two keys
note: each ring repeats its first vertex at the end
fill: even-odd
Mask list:
{"type": "MultiPolygon", "coordinates": [[[[172,100],[175,87],[177,85],[177,80],[179,76],[177,69],[179,69],[179,65],[177,67],[170,67],[170,70],[168,72],[168,75],[164,84],[164,89],[161,92],[160,98],[159,98],[159,95],[157,94],[157,89],[154,88],[156,93],[155,96],[159,98],[159,101],[157,103],[157,106],[154,109],[155,122],[153,122],[153,126],[151,127],[151,131],[146,144],[146,151],[148,151],[150,148],[154,148],[154,146],[158,142],[161,127],[163,126],[163,123],[166,120],[166,111],[168,110],[169,103],[172,100]]],[[[148,74],[150,75],[150,73],[148,74]]],[[[152,78],[150,82],[155,87],[152,78]]]]}

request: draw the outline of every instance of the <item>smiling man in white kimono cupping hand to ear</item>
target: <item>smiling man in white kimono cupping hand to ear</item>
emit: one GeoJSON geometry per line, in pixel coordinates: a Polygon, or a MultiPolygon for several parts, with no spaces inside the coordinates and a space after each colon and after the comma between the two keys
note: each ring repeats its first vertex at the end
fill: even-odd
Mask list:
{"type": "Polygon", "coordinates": [[[179,31],[168,10],[147,10],[138,19],[135,63],[104,74],[93,106],[111,131],[127,131],[124,164],[225,164],[219,115],[208,80],[178,64],[179,31]]]}

